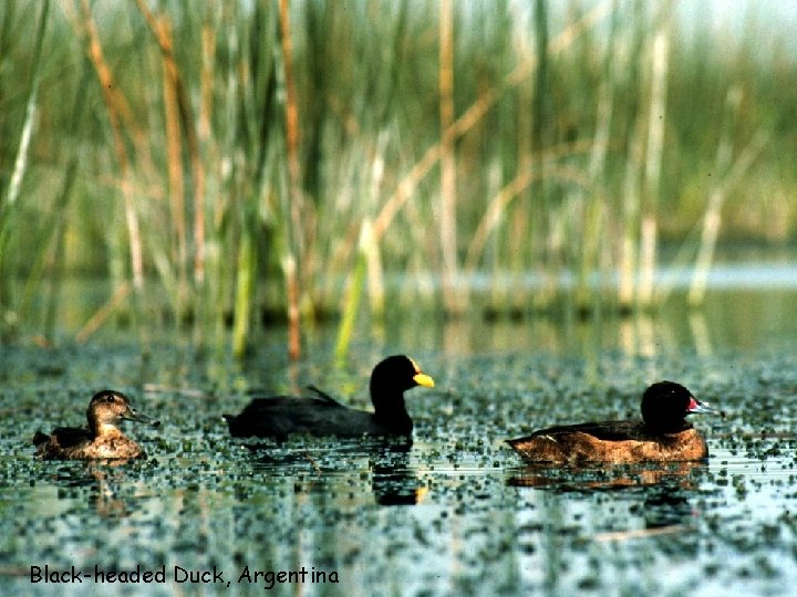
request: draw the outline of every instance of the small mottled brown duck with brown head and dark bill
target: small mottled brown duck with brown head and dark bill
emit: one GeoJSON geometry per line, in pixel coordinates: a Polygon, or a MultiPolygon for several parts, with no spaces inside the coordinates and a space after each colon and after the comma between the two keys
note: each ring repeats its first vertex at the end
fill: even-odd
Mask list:
{"type": "Polygon", "coordinates": [[[86,410],[89,428],[59,427],[49,436],[37,431],[33,446],[44,460],[96,460],[146,458],[141,447],[122,433],[118,425],[138,421],[153,427],[161,421],[136,412],[122,392],[103,390],[94,395],[86,410]]]}

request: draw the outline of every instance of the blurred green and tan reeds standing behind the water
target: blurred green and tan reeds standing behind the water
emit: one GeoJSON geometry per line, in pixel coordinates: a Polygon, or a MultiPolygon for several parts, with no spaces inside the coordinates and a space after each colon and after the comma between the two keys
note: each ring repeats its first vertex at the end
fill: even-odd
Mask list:
{"type": "MultiPolygon", "coordinates": [[[[700,304],[797,229],[778,2],[4,0],[0,329],[700,304]]],[[[66,333],[74,334],[75,331],[66,333]]]]}

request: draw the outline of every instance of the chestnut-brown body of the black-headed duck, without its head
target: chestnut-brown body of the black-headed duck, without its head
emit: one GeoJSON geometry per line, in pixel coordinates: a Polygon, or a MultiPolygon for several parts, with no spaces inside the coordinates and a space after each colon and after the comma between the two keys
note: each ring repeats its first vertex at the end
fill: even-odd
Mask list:
{"type": "Polygon", "coordinates": [[[708,455],[694,428],[653,433],[641,421],[551,427],[507,443],[530,462],[677,462],[708,455]]]}

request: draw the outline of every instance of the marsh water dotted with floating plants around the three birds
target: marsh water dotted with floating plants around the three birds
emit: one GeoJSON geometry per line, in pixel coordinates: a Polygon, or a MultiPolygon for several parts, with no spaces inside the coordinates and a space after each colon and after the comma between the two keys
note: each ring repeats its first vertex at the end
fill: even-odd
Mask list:
{"type": "Polygon", "coordinates": [[[176,333],[0,346],[0,593],[794,594],[797,290],[682,305],[587,321],[407,315],[362,329],[338,364],[334,326],[308,331],[298,363],[281,329],[242,363],[176,333]],[[412,444],[227,433],[221,413],[308,384],[370,408],[371,367],[393,353],[436,381],[407,395],[412,444]],[[695,420],[706,462],[527,468],[503,443],[635,416],[663,378],[726,411],[695,420]],[[33,432],[82,423],[106,386],[163,421],[125,427],[149,458],[34,459],[33,432]]]}

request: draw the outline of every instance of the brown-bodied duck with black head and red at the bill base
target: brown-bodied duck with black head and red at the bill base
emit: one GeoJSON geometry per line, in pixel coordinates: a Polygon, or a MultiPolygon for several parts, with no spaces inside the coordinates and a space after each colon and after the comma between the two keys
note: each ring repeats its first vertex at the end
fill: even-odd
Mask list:
{"type": "Polygon", "coordinates": [[[659,381],[642,395],[641,421],[604,421],[566,425],[507,440],[530,462],[679,462],[703,460],[708,448],[686,421],[696,412],[723,412],[700,402],[674,381],[659,381]]]}

